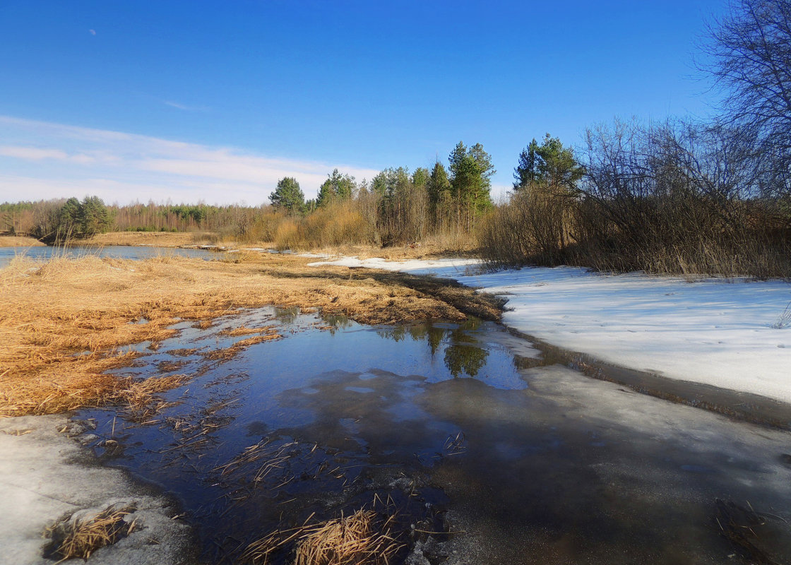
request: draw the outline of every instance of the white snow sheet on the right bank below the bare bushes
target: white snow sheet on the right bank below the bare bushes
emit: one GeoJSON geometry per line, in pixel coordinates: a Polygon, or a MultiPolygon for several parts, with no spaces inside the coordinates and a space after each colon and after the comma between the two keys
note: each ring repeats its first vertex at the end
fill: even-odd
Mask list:
{"type": "Polygon", "coordinates": [[[687,282],[573,267],[476,274],[477,260],[344,258],[331,264],[456,279],[505,295],[503,322],[547,343],[630,369],[791,403],[791,327],[772,327],[791,301],[787,282],[687,282]]]}

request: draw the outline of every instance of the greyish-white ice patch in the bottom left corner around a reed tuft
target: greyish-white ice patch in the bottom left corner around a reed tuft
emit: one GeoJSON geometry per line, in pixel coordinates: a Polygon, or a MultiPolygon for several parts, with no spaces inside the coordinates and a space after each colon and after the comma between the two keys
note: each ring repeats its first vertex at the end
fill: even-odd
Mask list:
{"type": "MultiPolygon", "coordinates": [[[[119,469],[96,464],[88,449],[59,430],[74,433],[67,415],[0,419],[0,548],[2,563],[51,565],[44,558],[44,529],[78,514],[93,516],[110,505],[134,506],[127,521],[139,529],[91,556],[93,565],[195,563],[191,532],[164,496],[132,483],[119,469]]],[[[79,559],[74,559],[78,563],[79,559]]],[[[70,563],[72,563],[70,561],[70,563]]]]}

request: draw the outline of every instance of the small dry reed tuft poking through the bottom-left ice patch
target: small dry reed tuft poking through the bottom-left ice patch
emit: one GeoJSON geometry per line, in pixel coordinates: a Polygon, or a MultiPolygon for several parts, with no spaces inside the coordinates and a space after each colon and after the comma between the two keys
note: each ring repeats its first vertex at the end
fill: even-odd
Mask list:
{"type": "Polygon", "coordinates": [[[135,521],[124,520],[133,511],[131,508],[116,510],[115,506],[108,506],[89,518],[60,521],[51,525],[44,534],[52,539],[53,553],[60,558],[58,563],[74,557],[87,560],[97,549],[114,544],[134,531],[135,521]]]}

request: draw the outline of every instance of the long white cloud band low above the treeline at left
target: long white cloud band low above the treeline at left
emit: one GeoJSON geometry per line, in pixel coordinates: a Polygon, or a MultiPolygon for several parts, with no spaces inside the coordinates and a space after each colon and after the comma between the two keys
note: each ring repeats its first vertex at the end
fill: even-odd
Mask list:
{"type": "Polygon", "coordinates": [[[267,157],[233,147],[0,116],[0,201],[86,194],[107,202],[267,202],[283,176],[316,195],[338,168],[358,179],[377,170],[267,157]]]}

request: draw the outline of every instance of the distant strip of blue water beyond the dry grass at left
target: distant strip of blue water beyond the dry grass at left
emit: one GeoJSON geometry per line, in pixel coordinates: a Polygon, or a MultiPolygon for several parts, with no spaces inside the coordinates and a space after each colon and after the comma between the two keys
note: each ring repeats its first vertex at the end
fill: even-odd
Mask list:
{"type": "Polygon", "coordinates": [[[46,260],[52,256],[80,257],[96,255],[115,259],[147,259],[160,255],[180,257],[216,258],[216,252],[206,249],[181,249],[164,247],[135,247],[131,245],[108,245],[106,247],[0,247],[0,268],[5,267],[16,256],[28,256],[33,259],[46,260]]]}

